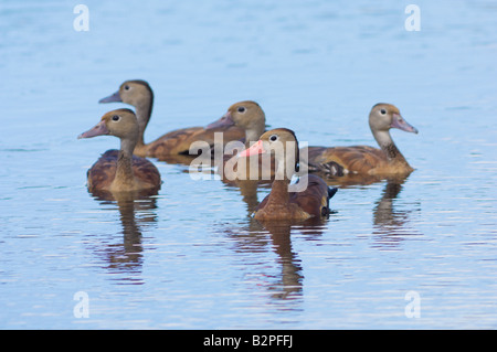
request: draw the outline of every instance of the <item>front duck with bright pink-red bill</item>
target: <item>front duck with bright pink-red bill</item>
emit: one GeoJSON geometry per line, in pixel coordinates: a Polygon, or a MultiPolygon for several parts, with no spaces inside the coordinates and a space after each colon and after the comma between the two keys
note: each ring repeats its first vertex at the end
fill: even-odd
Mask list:
{"type": "Polygon", "coordinates": [[[253,217],[263,222],[327,217],[330,213],[329,200],[337,193],[337,188],[329,188],[318,175],[307,174],[299,178],[299,190],[289,191],[292,177],[299,169],[298,141],[293,130],[276,128],[264,132],[257,142],[243,150],[240,157],[273,152],[276,163],[275,179],[269,194],[257,205],[253,217]]]}

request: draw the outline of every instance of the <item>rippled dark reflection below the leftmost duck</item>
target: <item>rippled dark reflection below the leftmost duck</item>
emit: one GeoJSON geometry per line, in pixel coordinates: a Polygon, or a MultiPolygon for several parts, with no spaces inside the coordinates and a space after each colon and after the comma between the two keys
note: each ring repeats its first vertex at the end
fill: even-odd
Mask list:
{"type": "MultiPolygon", "coordinates": [[[[114,273],[139,274],[142,267],[142,235],[144,226],[156,223],[157,199],[149,194],[136,194],[130,192],[119,193],[93,193],[101,204],[117,205],[121,223],[123,239],[117,243],[106,244],[98,248],[98,254],[107,263],[105,268],[114,273]],[[137,216],[137,214],[139,216],[137,216]]],[[[126,275],[125,280],[133,284],[141,284],[133,275],[126,275]]]]}

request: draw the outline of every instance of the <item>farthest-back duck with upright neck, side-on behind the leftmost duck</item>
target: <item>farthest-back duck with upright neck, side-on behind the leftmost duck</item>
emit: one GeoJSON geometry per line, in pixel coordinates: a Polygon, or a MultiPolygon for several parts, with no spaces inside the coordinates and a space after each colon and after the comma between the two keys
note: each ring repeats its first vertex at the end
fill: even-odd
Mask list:
{"type": "Polygon", "coordinates": [[[125,81],[116,93],[102,98],[98,103],[125,103],[135,107],[139,135],[134,153],[138,157],[163,159],[175,154],[189,154],[190,146],[194,141],[207,141],[213,146],[216,131],[224,134],[226,142],[244,136],[243,130],[235,126],[209,130],[204,127],[188,127],[172,130],[155,141],[146,143],[144,135],[154,108],[154,92],[148,82],[144,79],[125,81]]]}

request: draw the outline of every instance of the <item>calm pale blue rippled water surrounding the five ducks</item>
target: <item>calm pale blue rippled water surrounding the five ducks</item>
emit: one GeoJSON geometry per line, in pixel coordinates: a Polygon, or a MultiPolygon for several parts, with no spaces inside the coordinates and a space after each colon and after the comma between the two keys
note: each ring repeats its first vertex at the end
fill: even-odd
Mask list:
{"type": "Polygon", "coordinates": [[[0,328],[496,329],[497,4],[416,1],[406,31],[411,2],[85,1],[78,32],[77,2],[2,1],[0,328]],[[86,170],[118,140],[76,137],[131,78],[148,141],[253,99],[310,146],[374,146],[393,103],[416,170],[340,185],[319,226],[265,228],[267,188],[157,160],[157,196],[98,200],[86,170]]]}

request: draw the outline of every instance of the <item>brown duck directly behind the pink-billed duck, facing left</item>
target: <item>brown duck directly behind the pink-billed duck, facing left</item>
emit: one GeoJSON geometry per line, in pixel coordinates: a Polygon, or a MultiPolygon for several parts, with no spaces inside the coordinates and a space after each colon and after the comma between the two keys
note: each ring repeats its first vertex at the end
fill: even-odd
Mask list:
{"type": "MultiPolygon", "coordinates": [[[[261,105],[253,100],[237,102],[231,105],[218,121],[208,125],[205,129],[228,128],[231,126],[236,126],[244,130],[245,136],[240,139],[239,143],[233,146],[233,150],[229,150],[230,148],[228,147],[230,145],[228,145],[222,160],[216,160],[216,167],[223,180],[271,180],[274,177],[274,160],[258,158],[257,173],[253,171],[251,174],[250,159],[240,157],[240,154],[233,156],[233,151],[248,148],[265,132],[266,116],[261,105]]],[[[252,169],[255,169],[255,166],[252,169]]]]}

